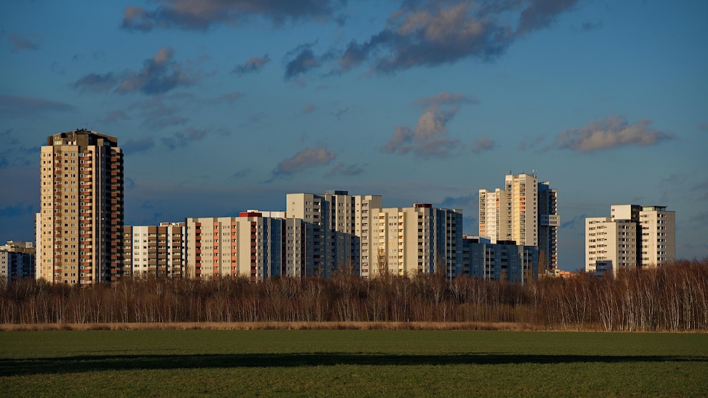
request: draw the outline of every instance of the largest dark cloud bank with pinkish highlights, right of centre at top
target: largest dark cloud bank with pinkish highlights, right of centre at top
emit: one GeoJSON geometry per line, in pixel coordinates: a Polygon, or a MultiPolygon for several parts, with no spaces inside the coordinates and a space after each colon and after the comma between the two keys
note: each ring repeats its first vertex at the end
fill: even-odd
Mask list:
{"type": "Polygon", "coordinates": [[[404,1],[367,41],[351,41],[338,68],[368,65],[373,73],[439,66],[466,58],[489,61],[517,39],[552,25],[577,0],[404,1]],[[508,21],[518,21],[510,24],[508,21]]]}

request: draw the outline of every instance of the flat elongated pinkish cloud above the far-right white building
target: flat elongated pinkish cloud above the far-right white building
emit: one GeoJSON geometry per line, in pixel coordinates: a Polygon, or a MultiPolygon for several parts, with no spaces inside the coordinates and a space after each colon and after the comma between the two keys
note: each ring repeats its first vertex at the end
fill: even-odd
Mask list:
{"type": "Polygon", "coordinates": [[[651,125],[650,119],[629,124],[622,116],[608,116],[581,128],[562,131],[549,148],[592,153],[620,146],[652,146],[674,139],[674,133],[653,130],[651,125]]]}

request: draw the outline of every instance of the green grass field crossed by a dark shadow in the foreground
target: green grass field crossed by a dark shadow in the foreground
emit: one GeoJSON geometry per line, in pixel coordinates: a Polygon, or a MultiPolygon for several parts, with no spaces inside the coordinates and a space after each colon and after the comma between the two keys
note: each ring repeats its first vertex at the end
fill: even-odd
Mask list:
{"type": "Polygon", "coordinates": [[[708,394],[706,334],[89,330],[0,339],[5,397],[708,394]]]}

